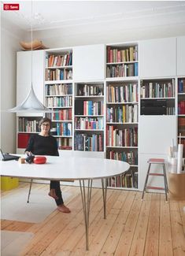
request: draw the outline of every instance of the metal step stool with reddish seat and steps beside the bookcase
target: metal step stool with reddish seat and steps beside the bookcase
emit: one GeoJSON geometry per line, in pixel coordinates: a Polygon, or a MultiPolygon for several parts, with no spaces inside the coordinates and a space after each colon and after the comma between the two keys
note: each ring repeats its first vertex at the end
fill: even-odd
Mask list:
{"type": "Polygon", "coordinates": [[[148,168],[148,172],[146,174],[144,189],[142,191],[142,199],[144,198],[144,192],[146,192],[146,189],[164,190],[165,191],[166,202],[168,202],[168,195],[167,195],[167,193],[168,193],[168,182],[167,182],[166,170],[165,170],[165,159],[163,159],[163,158],[150,158],[149,161],[147,161],[147,162],[149,163],[149,168],[148,168]],[[150,173],[151,165],[161,165],[162,169],[163,169],[163,173],[150,173]],[[147,186],[149,176],[164,176],[165,187],[147,186]]]}

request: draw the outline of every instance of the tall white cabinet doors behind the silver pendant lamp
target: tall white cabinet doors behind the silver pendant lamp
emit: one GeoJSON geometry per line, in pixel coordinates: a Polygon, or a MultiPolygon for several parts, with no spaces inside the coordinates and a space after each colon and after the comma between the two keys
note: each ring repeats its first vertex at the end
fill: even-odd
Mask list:
{"type": "MultiPolygon", "coordinates": [[[[43,102],[44,50],[35,50],[32,54],[32,83],[35,95],[40,102],[43,102]]],[[[31,51],[21,51],[17,53],[17,105],[27,97],[30,87],[31,51]]],[[[23,116],[22,113],[21,116],[23,116]]]]}

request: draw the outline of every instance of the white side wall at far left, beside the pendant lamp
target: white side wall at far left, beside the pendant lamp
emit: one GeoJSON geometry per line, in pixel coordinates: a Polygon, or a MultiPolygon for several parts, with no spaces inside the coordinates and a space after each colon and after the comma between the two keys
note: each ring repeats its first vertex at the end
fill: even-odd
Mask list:
{"type": "Polygon", "coordinates": [[[16,105],[17,50],[24,33],[1,22],[1,130],[0,148],[5,152],[16,152],[16,114],[8,113],[16,105]]]}

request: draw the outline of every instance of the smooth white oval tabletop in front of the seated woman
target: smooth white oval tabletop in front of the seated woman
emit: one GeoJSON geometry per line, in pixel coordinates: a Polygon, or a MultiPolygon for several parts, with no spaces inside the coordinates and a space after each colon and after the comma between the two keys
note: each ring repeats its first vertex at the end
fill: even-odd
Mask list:
{"type": "Polygon", "coordinates": [[[117,176],[130,168],[124,161],[104,158],[46,158],[44,165],[20,164],[15,160],[0,161],[0,174],[42,180],[88,180],[117,176]]]}

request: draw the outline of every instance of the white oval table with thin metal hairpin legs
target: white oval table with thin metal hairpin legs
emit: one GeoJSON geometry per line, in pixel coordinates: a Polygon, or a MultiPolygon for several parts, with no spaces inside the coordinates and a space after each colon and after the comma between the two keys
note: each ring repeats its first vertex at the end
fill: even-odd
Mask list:
{"type": "Polygon", "coordinates": [[[120,176],[130,168],[124,161],[103,158],[62,158],[46,156],[44,165],[20,164],[18,161],[0,161],[1,176],[37,180],[79,180],[86,228],[86,249],[89,249],[88,228],[93,180],[102,180],[104,218],[106,209],[106,179],[120,176]],[[87,183],[85,184],[85,181],[87,183]]]}

